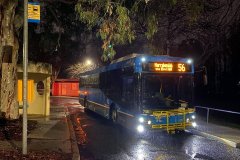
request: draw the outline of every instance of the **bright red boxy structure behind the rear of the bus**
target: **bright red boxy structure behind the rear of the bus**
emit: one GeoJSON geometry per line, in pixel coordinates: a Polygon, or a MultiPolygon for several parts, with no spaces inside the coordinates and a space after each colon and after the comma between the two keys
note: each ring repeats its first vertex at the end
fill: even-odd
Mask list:
{"type": "Polygon", "coordinates": [[[57,79],[52,84],[53,96],[78,97],[79,95],[78,91],[79,91],[78,79],[57,79]]]}

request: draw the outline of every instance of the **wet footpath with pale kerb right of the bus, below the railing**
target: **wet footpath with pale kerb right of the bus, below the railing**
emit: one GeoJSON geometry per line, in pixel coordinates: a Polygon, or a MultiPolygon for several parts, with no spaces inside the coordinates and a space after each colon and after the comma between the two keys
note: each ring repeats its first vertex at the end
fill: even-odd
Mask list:
{"type": "Polygon", "coordinates": [[[197,127],[189,129],[193,134],[220,141],[229,146],[240,148],[240,130],[197,120],[197,127]]]}

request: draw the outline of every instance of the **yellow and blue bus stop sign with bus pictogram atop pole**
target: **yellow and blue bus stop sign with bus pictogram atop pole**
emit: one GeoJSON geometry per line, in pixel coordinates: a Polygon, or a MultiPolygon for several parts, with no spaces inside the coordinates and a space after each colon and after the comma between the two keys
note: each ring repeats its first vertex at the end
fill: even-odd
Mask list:
{"type": "Polygon", "coordinates": [[[40,23],[40,3],[28,2],[28,22],[40,23]]]}

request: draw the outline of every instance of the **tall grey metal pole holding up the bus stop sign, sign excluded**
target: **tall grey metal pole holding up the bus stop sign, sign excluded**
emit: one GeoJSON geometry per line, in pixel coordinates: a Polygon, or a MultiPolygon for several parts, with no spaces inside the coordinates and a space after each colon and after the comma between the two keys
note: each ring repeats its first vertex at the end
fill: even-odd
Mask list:
{"type": "Polygon", "coordinates": [[[27,66],[28,66],[28,0],[24,0],[24,31],[23,31],[23,130],[22,154],[27,154],[27,66]]]}

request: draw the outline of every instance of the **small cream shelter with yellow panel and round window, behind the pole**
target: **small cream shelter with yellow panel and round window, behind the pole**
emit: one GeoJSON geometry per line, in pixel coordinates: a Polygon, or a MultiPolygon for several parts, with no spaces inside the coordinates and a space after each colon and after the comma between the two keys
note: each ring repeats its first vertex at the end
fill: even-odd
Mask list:
{"type": "MultiPolygon", "coordinates": [[[[22,114],[23,106],[23,66],[18,65],[18,103],[19,113],[22,114]]],[[[50,83],[52,65],[46,63],[28,64],[28,114],[44,115],[50,114],[50,83]]]]}

